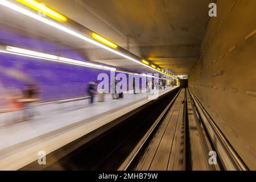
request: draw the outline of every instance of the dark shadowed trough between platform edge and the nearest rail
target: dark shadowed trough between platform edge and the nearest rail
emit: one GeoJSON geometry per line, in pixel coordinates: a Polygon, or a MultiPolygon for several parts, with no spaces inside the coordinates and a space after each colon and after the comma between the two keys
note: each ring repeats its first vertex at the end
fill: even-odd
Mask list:
{"type": "Polygon", "coordinates": [[[178,92],[179,88],[174,89],[48,154],[46,165],[39,166],[35,161],[20,170],[118,169],[178,92]]]}

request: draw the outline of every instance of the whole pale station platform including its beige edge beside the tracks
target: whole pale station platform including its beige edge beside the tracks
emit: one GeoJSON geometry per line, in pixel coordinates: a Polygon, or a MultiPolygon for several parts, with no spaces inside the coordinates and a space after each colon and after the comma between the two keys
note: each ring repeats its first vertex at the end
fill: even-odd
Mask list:
{"type": "MultiPolygon", "coordinates": [[[[160,90],[159,96],[175,88],[177,86],[160,90]]],[[[39,105],[35,107],[39,115],[34,118],[1,126],[0,169],[19,169],[22,164],[38,159],[36,151],[48,154],[151,101],[148,94],[130,93],[124,93],[123,98],[118,100],[113,100],[111,94],[106,94],[104,102],[97,100],[96,97],[93,105],[89,105],[88,99],[39,105]],[[23,163],[19,163],[19,166],[12,163],[14,166],[10,166],[16,158],[20,161],[20,155],[23,154],[26,154],[22,158],[23,163]]],[[[4,114],[6,113],[0,114],[0,117],[8,117],[3,116],[4,114]]]]}

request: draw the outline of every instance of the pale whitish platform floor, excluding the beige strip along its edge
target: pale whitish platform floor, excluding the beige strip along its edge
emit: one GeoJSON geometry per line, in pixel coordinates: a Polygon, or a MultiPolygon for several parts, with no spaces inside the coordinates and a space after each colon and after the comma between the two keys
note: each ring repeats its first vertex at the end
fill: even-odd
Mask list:
{"type": "MultiPolygon", "coordinates": [[[[174,88],[176,87],[169,89],[174,88]]],[[[160,92],[166,92],[166,90],[161,90],[160,92]]],[[[93,122],[96,118],[103,117],[147,98],[147,94],[126,93],[122,99],[113,100],[110,94],[106,94],[104,102],[97,102],[96,98],[96,102],[93,105],[89,105],[89,100],[80,100],[36,107],[39,115],[29,121],[0,127],[0,154],[3,154],[1,150],[20,142],[67,127],[73,123],[81,121],[84,123],[93,122]]]]}

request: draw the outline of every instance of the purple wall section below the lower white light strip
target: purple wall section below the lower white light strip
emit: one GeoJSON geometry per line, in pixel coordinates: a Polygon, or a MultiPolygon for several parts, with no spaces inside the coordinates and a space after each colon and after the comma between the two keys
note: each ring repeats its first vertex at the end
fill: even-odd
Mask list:
{"type": "Polygon", "coordinates": [[[4,53],[0,53],[0,59],[0,81],[5,88],[22,89],[33,80],[42,91],[43,101],[86,96],[90,81],[97,80],[100,73],[110,75],[100,69],[4,53]]]}

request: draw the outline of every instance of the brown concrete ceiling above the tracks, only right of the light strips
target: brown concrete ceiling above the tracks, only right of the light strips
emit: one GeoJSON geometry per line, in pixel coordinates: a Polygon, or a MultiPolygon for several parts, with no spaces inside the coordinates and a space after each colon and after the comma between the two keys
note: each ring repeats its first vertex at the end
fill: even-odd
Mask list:
{"type": "MultiPolygon", "coordinates": [[[[177,74],[199,57],[210,0],[83,0],[93,13],[131,38],[130,51],[177,74]]],[[[112,38],[115,40],[114,38],[112,38]]]]}

